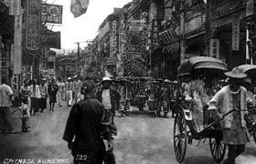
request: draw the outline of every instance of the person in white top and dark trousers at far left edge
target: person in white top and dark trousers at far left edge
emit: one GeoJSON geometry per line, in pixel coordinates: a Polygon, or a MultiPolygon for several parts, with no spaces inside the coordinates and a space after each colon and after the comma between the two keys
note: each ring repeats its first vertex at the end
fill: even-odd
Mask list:
{"type": "Polygon", "coordinates": [[[6,85],[7,79],[2,77],[0,85],[0,133],[15,133],[11,123],[11,96],[13,90],[6,85]]]}

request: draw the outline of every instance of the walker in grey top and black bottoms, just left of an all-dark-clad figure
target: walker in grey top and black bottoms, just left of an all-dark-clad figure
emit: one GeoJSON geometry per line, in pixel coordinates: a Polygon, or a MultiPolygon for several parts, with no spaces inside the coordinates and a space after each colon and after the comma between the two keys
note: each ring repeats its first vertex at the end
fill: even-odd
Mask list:
{"type": "Polygon", "coordinates": [[[41,98],[39,99],[39,108],[40,112],[44,112],[44,110],[48,106],[48,87],[46,85],[47,80],[45,78],[42,79],[41,85],[39,86],[41,98]]]}

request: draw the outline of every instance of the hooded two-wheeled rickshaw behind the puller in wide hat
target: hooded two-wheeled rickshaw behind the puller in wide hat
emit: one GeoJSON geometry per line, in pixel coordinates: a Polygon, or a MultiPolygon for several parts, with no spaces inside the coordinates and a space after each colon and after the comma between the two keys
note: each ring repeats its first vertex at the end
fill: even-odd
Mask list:
{"type": "MultiPolygon", "coordinates": [[[[219,125],[220,120],[208,118],[207,127],[197,130],[197,133],[192,133],[196,130],[195,126],[193,126],[195,125],[196,118],[193,115],[193,108],[185,100],[182,91],[184,91],[184,84],[187,84],[192,79],[197,77],[202,79],[220,79],[220,77],[224,77],[224,72],[227,70],[227,64],[217,58],[208,56],[190,57],[184,60],[181,66],[177,68],[179,96],[177,96],[176,105],[172,110],[172,116],[175,118],[174,149],[177,162],[182,162],[185,159],[187,144],[191,145],[193,139],[198,140],[199,144],[201,139],[209,138],[209,148],[213,159],[220,162],[224,158],[226,145],[221,142],[223,131],[219,125]]],[[[207,81],[205,84],[207,85],[207,81]]]]}

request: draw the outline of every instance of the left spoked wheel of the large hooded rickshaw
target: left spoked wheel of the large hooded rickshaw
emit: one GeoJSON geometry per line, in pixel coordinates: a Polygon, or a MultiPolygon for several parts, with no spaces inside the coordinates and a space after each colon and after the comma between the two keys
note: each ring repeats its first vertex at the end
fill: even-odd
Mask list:
{"type": "Polygon", "coordinates": [[[176,160],[181,163],[185,158],[187,149],[187,123],[181,110],[176,112],[174,123],[174,148],[176,160]]]}

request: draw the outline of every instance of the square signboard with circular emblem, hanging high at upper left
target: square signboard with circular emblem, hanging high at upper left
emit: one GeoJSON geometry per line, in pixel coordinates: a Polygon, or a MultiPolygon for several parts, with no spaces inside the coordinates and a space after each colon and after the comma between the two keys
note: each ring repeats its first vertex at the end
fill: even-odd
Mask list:
{"type": "Polygon", "coordinates": [[[42,4],[41,20],[45,23],[62,24],[62,5],[42,4]]]}

